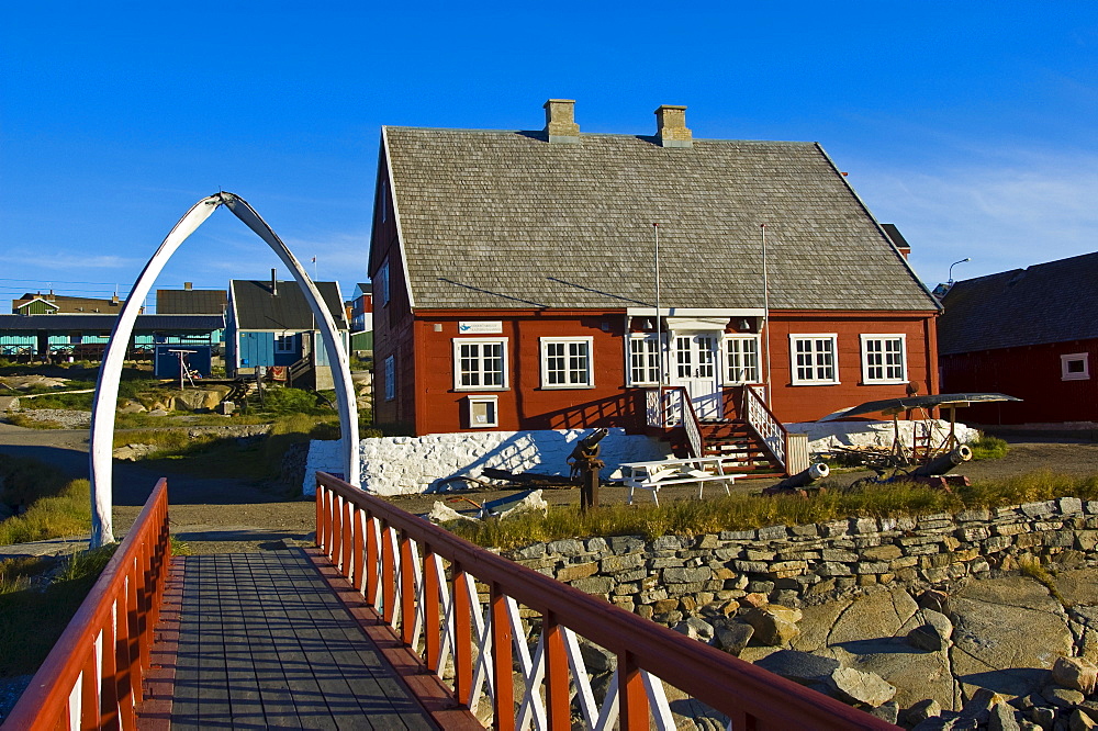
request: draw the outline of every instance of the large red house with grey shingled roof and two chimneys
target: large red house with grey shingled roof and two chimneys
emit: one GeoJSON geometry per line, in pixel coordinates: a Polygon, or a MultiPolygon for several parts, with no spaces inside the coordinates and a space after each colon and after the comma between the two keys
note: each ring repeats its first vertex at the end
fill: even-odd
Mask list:
{"type": "Polygon", "coordinates": [[[545,109],[537,132],[383,128],[379,421],[640,431],[661,378],[703,421],[738,418],[746,384],[799,421],[937,386],[939,305],[818,144],[545,109]]]}

